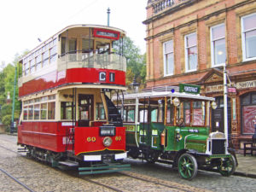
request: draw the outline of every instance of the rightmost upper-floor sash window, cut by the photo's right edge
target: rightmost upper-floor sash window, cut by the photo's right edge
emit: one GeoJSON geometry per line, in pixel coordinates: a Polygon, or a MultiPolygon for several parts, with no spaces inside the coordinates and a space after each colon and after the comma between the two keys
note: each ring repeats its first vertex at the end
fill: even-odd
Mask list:
{"type": "Polygon", "coordinates": [[[256,59],[256,13],[241,18],[243,61],[256,59]]]}

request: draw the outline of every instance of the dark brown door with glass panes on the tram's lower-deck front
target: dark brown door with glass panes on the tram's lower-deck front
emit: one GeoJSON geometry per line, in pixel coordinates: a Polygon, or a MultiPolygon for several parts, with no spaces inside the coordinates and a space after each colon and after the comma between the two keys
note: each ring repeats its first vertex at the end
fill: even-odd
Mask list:
{"type": "Polygon", "coordinates": [[[93,96],[79,94],[79,126],[90,126],[94,119],[93,96]]]}

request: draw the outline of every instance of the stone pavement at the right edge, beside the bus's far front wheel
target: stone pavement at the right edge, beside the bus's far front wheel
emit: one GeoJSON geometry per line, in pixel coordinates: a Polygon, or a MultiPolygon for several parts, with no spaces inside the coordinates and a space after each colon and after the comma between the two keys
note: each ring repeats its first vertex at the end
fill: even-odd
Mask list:
{"type": "Polygon", "coordinates": [[[244,156],[240,151],[236,153],[236,158],[238,166],[234,175],[256,178],[256,154],[244,156]]]}

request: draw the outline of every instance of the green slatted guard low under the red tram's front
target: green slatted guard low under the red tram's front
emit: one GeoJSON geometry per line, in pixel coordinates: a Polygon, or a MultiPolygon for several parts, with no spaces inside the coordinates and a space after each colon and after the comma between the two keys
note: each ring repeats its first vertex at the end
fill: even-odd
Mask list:
{"type": "Polygon", "coordinates": [[[130,164],[98,164],[90,167],[79,167],[79,175],[100,174],[106,172],[123,172],[130,170],[130,164]]]}

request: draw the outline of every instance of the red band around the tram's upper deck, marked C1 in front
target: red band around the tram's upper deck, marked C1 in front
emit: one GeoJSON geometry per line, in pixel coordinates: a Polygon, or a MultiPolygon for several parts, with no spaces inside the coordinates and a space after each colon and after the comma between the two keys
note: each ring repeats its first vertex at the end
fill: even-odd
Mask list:
{"type": "Polygon", "coordinates": [[[38,79],[22,84],[19,88],[19,96],[26,96],[41,90],[58,87],[63,84],[113,84],[125,86],[125,72],[98,68],[72,68],[62,72],[51,72],[38,79]],[[106,80],[100,81],[99,73],[106,73],[106,80]],[[114,73],[114,81],[110,82],[110,73],[114,73]]]}

